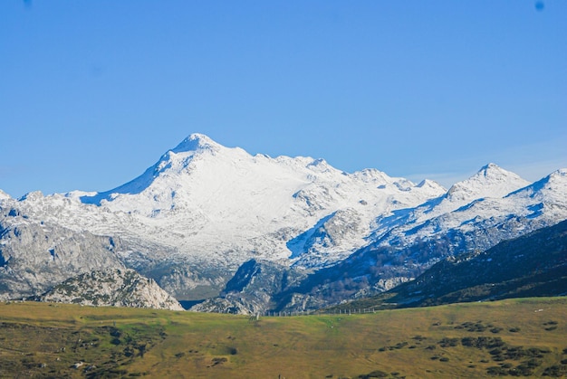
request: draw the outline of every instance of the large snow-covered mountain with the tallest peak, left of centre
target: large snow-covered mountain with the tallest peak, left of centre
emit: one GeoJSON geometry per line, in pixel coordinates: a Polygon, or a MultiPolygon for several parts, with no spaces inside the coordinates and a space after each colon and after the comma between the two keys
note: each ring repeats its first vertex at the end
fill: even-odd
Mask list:
{"type": "Polygon", "coordinates": [[[33,193],[12,204],[78,232],[159,244],[183,259],[301,261],[312,251],[317,257],[310,264],[318,265],[365,244],[377,215],[444,192],[435,183],[413,185],[378,170],[347,174],[322,159],[251,156],[192,135],[111,191],[33,193]],[[348,219],[350,229],[333,230],[335,219],[348,219]],[[313,237],[325,227],[326,240],[313,237]]]}

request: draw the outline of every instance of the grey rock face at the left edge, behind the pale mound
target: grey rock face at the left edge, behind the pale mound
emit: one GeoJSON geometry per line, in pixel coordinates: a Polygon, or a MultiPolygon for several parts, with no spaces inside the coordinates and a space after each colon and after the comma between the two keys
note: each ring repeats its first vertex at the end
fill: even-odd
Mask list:
{"type": "Polygon", "coordinates": [[[120,239],[7,213],[0,213],[0,299],[39,295],[91,270],[124,268],[116,254],[120,239]]]}

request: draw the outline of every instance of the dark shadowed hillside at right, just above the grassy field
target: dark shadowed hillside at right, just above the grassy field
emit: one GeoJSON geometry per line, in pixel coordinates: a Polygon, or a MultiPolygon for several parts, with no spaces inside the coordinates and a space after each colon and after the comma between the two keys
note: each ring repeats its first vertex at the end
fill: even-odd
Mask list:
{"type": "Polygon", "coordinates": [[[406,308],[567,294],[567,221],[492,249],[449,257],[416,280],[340,308],[406,308]]]}

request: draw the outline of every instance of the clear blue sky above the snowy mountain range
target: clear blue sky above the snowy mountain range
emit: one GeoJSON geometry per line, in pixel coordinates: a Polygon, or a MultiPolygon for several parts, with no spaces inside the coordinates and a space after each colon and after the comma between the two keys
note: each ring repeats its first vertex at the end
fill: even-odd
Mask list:
{"type": "Polygon", "coordinates": [[[0,189],[108,190],[195,132],[537,180],[567,167],[567,1],[0,2],[0,189]]]}

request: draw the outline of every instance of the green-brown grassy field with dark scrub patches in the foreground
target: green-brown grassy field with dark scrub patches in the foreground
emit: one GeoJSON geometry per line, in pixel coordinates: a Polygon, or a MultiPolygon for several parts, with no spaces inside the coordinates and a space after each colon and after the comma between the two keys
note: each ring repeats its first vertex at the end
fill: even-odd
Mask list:
{"type": "Polygon", "coordinates": [[[249,317],[0,304],[0,377],[567,375],[567,298],[249,317]]]}

